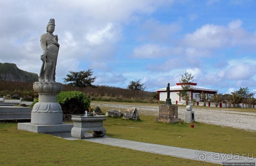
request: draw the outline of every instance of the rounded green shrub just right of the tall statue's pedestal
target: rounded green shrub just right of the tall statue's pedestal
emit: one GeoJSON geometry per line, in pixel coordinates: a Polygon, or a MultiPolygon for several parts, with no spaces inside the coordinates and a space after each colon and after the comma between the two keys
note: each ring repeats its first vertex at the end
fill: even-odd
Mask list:
{"type": "Polygon", "coordinates": [[[57,103],[61,105],[63,114],[84,114],[91,101],[83,92],[67,91],[57,95],[57,103]]]}

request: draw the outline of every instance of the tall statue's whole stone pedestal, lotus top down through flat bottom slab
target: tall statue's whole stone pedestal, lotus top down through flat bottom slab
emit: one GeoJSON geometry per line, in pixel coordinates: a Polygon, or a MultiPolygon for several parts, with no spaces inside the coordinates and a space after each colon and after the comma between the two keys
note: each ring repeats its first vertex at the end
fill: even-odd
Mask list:
{"type": "Polygon", "coordinates": [[[62,83],[35,82],[33,88],[39,95],[39,102],[31,111],[31,123],[18,123],[18,130],[35,133],[71,131],[73,124],[62,123],[62,109],[56,103],[56,96],[62,91],[62,83]]]}

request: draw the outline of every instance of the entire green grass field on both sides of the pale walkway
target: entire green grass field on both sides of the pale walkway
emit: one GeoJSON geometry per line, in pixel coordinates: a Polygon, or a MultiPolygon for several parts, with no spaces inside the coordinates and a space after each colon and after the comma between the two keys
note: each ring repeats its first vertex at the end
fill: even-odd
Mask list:
{"type": "MultiPolygon", "coordinates": [[[[103,112],[108,109],[101,107],[103,112]]],[[[197,122],[195,128],[191,128],[184,122],[155,122],[155,116],[140,115],[140,118],[140,121],[135,121],[107,117],[103,126],[107,135],[113,138],[198,151],[250,153],[250,157],[256,152],[256,132],[197,122]]],[[[20,131],[16,123],[1,123],[0,138],[0,165],[217,165],[20,131]]]]}

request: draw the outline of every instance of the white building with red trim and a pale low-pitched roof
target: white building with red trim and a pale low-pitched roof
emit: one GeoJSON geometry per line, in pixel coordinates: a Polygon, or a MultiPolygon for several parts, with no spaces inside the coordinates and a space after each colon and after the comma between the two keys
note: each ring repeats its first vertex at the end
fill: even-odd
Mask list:
{"type": "MultiPolygon", "coordinates": [[[[180,91],[182,90],[181,85],[183,85],[183,83],[176,83],[176,86],[170,86],[170,99],[172,100],[172,102],[174,101],[186,102],[181,99],[180,95],[177,94],[177,93],[180,93],[180,91]]],[[[190,100],[194,98],[198,102],[201,101],[200,96],[202,92],[206,93],[207,97],[209,98],[211,97],[211,95],[215,95],[215,93],[218,92],[218,90],[215,90],[215,89],[197,86],[197,83],[186,83],[186,85],[191,85],[193,88],[190,92],[188,92],[190,100]]],[[[166,101],[166,98],[167,98],[166,88],[156,89],[156,92],[159,93],[158,100],[166,101]]]]}

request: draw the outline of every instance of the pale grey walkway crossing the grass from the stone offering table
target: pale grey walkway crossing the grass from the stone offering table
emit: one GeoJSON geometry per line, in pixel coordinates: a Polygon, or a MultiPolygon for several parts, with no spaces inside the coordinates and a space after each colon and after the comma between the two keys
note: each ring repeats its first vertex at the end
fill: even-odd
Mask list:
{"type": "MultiPolygon", "coordinates": [[[[65,138],[68,140],[78,140],[77,138],[65,138]]],[[[194,149],[186,149],[174,146],[157,145],[144,142],[130,141],[125,139],[110,138],[108,136],[104,137],[94,137],[87,134],[85,141],[91,141],[99,144],[118,146],[128,149],[133,149],[137,151],[146,151],[150,153],[157,153],[162,155],[169,155],[174,157],[181,157],[187,159],[198,160],[200,162],[210,162],[210,163],[256,163],[256,158],[247,157],[248,154],[240,156],[238,154],[226,154],[226,153],[216,153],[211,151],[200,151],[194,149]]],[[[231,152],[230,152],[231,153],[231,152]]],[[[235,153],[235,152],[234,152],[235,153]]],[[[251,155],[251,154],[250,154],[251,155]]]]}

